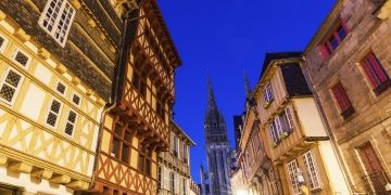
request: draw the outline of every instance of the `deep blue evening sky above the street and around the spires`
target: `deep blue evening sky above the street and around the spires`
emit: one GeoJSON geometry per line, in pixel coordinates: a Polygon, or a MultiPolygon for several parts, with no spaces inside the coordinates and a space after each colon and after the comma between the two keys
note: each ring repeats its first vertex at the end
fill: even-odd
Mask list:
{"type": "Polygon", "coordinates": [[[197,143],[191,173],[206,165],[207,72],[234,147],[232,116],[244,106],[243,70],[254,87],[265,52],[302,51],[336,0],[157,0],[182,60],[175,121],[197,143]]]}

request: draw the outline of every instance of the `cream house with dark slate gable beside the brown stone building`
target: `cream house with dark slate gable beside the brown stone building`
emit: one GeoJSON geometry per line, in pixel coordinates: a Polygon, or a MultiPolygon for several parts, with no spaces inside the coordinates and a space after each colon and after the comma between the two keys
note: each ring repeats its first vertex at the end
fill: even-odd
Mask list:
{"type": "MultiPolygon", "coordinates": [[[[275,181],[278,182],[279,178],[281,185],[277,185],[278,191],[272,186],[273,194],[350,194],[316,102],[301,70],[301,55],[298,52],[266,53],[254,91],[258,123],[255,120],[253,125],[249,123],[250,128],[244,125],[244,132],[255,127],[255,132],[261,133],[262,139],[250,142],[250,146],[243,150],[247,161],[244,176],[248,181],[263,183],[267,177],[258,177],[260,172],[270,174],[272,169],[267,168],[274,167],[278,170],[275,181]],[[256,142],[262,142],[264,148],[256,147],[256,142]],[[254,146],[251,147],[252,144],[254,146]],[[252,155],[263,150],[270,162],[253,162],[254,159],[263,161],[257,159],[262,155],[252,155]],[[257,177],[251,177],[253,174],[257,177]]],[[[251,121],[250,117],[247,121],[251,121]]],[[[248,136],[245,134],[243,139],[248,136]]],[[[261,192],[267,187],[258,186],[261,192]]]]}

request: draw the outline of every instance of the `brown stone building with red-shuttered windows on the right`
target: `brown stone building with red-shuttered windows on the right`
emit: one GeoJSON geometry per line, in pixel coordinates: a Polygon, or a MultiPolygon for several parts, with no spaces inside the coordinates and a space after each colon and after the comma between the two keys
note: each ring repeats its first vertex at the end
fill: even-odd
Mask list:
{"type": "Polygon", "coordinates": [[[390,6],[338,1],[305,49],[303,68],[357,194],[391,188],[390,6]]]}

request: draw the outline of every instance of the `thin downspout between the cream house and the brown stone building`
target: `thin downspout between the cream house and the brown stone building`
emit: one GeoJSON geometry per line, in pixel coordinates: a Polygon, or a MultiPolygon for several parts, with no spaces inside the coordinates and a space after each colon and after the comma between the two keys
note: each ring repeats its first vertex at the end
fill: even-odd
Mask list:
{"type": "Polygon", "coordinates": [[[338,165],[342,168],[343,179],[344,179],[345,182],[348,182],[348,184],[349,184],[348,190],[349,190],[350,194],[353,194],[353,193],[352,193],[352,188],[351,188],[352,183],[351,183],[351,181],[348,179],[348,176],[346,176],[348,169],[346,169],[345,165],[341,161],[342,155],[341,155],[340,151],[338,150],[338,146],[336,145],[336,138],[335,138],[333,134],[331,133],[330,123],[326,120],[326,113],[325,113],[324,108],[320,106],[319,96],[317,95],[317,93],[314,92],[314,88],[313,88],[313,86],[312,86],[313,82],[312,82],[312,80],[311,80],[311,78],[310,78],[310,76],[308,76],[307,69],[306,69],[306,68],[307,68],[307,62],[306,62],[306,55],[305,55],[305,54],[303,54],[302,60],[303,60],[304,67],[303,67],[303,66],[301,66],[301,67],[302,67],[302,69],[303,69],[304,78],[305,78],[305,80],[307,81],[307,84],[308,84],[308,87],[310,87],[310,90],[311,90],[311,92],[312,92],[313,95],[314,95],[314,100],[315,100],[315,103],[316,103],[316,107],[317,107],[317,109],[319,110],[320,116],[321,116],[321,117],[320,117],[320,118],[321,118],[321,121],[323,121],[323,123],[324,123],[325,127],[326,127],[326,133],[327,133],[327,135],[330,138],[330,140],[331,140],[331,148],[332,148],[332,151],[337,154],[337,161],[338,161],[338,165]]]}

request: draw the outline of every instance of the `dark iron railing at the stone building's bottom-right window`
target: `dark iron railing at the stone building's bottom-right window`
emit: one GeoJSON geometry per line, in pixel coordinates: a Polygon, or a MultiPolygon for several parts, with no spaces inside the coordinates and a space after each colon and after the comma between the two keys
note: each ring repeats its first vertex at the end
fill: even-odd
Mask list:
{"type": "Polygon", "coordinates": [[[384,171],[371,173],[363,177],[366,181],[367,188],[377,195],[387,195],[389,192],[386,190],[386,185],[390,182],[384,171]]]}

